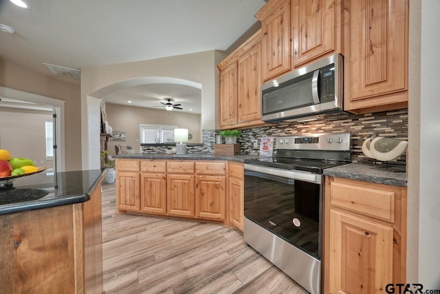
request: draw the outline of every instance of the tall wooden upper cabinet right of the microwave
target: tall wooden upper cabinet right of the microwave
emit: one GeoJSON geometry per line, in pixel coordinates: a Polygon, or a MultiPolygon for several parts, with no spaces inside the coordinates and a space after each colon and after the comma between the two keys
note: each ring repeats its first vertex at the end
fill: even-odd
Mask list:
{"type": "Polygon", "coordinates": [[[345,2],[345,109],[408,107],[408,0],[345,2]]]}

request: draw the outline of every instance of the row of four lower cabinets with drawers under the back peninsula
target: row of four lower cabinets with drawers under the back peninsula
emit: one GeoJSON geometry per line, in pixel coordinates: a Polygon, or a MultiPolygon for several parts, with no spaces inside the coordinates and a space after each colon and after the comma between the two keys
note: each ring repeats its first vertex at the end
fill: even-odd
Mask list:
{"type": "Polygon", "coordinates": [[[118,159],[118,213],[136,212],[228,224],[227,162],[118,159]],[[137,170],[137,171],[136,171],[137,170]]]}

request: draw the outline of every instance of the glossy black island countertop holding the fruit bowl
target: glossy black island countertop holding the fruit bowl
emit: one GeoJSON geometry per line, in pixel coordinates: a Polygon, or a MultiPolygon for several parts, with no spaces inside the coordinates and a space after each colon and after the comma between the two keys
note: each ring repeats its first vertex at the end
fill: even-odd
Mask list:
{"type": "Polygon", "coordinates": [[[16,178],[12,188],[0,189],[0,216],[86,202],[106,173],[94,169],[16,178]]]}

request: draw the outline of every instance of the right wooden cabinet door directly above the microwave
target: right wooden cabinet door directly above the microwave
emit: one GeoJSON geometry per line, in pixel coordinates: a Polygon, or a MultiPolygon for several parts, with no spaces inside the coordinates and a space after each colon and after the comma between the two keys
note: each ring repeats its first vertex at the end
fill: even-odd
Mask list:
{"type": "Polygon", "coordinates": [[[339,33],[336,32],[336,21],[340,18],[335,2],[338,1],[292,1],[294,67],[335,49],[335,38],[339,33]]]}

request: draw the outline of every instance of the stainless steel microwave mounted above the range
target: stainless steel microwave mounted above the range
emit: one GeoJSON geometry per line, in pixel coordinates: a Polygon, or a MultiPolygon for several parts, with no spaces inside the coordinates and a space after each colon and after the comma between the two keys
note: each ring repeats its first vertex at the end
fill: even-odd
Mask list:
{"type": "Polygon", "coordinates": [[[261,120],[274,123],[343,109],[341,54],[289,72],[261,86],[261,120]]]}

